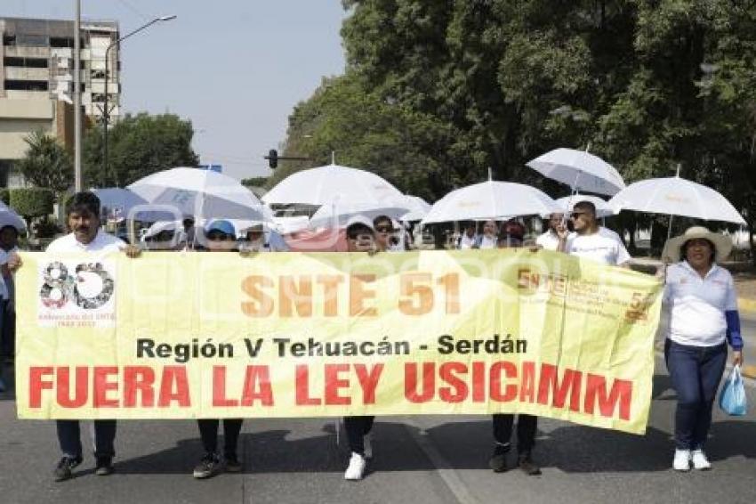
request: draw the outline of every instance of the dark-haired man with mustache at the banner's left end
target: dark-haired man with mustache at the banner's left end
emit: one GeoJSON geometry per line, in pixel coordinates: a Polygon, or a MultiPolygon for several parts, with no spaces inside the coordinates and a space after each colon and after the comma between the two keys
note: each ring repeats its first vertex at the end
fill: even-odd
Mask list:
{"type": "MultiPolygon", "coordinates": [[[[47,247],[52,254],[65,253],[108,253],[125,251],[127,256],[139,255],[139,248],[126,245],[100,229],[100,199],[92,192],[76,192],[66,202],[66,221],[70,232],[53,240],[47,247]]],[[[12,271],[21,266],[19,256],[9,261],[12,271]]],[[[55,467],[55,481],[63,481],[73,476],[72,469],[82,463],[82,443],[79,420],[56,420],[58,441],[63,456],[55,467]]],[[[108,476],[113,472],[113,457],[116,455],[116,420],[94,420],[95,474],[108,476]]]]}

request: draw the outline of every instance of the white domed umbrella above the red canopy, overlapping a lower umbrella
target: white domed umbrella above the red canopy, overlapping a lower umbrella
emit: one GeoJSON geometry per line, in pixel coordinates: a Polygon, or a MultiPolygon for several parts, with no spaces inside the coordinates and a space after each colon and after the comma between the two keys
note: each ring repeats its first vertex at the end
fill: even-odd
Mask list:
{"type": "Polygon", "coordinates": [[[265,193],[262,200],[268,205],[328,205],[336,199],[342,203],[367,204],[402,197],[396,187],[378,175],[331,164],[287,176],[265,193]]]}

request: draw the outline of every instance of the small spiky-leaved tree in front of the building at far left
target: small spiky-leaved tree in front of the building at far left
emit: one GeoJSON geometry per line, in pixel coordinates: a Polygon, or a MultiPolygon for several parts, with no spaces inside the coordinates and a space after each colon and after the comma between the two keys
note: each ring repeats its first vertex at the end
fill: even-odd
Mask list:
{"type": "Polygon", "coordinates": [[[49,189],[56,199],[74,183],[74,166],[68,151],[54,137],[34,131],[24,139],[26,156],[17,167],[24,179],[36,187],[49,189]]]}

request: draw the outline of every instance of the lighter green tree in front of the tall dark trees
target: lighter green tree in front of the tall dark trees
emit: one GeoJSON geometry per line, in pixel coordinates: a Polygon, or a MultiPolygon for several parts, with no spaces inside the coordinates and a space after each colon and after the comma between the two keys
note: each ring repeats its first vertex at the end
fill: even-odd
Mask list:
{"type": "Polygon", "coordinates": [[[307,157],[281,161],[268,187],[294,171],[331,162],[364,168],[394,183],[402,191],[433,198],[459,183],[443,150],[454,130],[410,107],[391,103],[366,90],[360,77],[348,74],[324,79],[310,100],[289,118],[285,156],[307,157]],[[432,155],[431,155],[432,153],[432,155]]]}

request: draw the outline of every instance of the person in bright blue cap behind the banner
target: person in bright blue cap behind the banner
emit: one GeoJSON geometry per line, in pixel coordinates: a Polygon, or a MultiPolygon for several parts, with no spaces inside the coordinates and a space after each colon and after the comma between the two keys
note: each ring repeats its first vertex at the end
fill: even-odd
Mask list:
{"type": "MultiPolygon", "coordinates": [[[[237,250],[237,232],[234,224],[226,220],[216,220],[205,229],[205,248],[210,252],[231,252],[237,250]]],[[[243,419],[223,419],[223,460],[218,454],[219,419],[197,419],[199,436],[205,455],[194,468],[192,476],[205,479],[217,475],[225,467],[230,473],[242,470],[237,456],[237,444],[242,430],[243,419]],[[224,464],[225,462],[225,464],[224,464]]]]}

